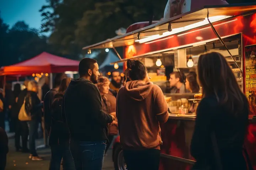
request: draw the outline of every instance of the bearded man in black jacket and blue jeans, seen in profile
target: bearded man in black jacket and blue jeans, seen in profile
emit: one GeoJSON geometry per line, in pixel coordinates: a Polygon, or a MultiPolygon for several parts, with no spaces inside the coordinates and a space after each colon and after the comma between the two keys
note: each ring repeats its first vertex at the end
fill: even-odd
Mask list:
{"type": "MultiPolygon", "coordinates": [[[[97,61],[79,63],[79,79],[71,80],[63,96],[62,111],[70,132],[70,151],[76,170],[101,170],[107,143],[107,125],[114,116],[102,111],[97,86],[97,61]],[[93,153],[92,153],[93,152],[93,153]]],[[[63,162],[64,163],[64,162],[63,162]]]]}

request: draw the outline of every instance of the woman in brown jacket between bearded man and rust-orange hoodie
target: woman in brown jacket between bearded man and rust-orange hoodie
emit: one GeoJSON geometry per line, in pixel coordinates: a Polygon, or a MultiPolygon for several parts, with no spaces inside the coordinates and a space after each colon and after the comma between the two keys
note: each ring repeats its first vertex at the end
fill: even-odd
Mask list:
{"type": "MultiPolygon", "coordinates": [[[[99,77],[97,87],[100,90],[101,94],[101,102],[102,102],[102,110],[105,113],[111,114],[116,118],[116,97],[108,94],[110,81],[107,77],[99,77]]],[[[118,134],[117,120],[114,120],[110,125],[108,125],[108,144],[105,150],[107,153],[108,148],[110,147],[113,138],[118,134]]]]}

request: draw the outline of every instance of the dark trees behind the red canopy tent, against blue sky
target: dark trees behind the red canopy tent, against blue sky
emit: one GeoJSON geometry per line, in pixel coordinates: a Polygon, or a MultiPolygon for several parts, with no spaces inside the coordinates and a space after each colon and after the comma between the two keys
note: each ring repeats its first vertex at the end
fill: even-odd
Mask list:
{"type": "Polygon", "coordinates": [[[0,37],[0,67],[28,60],[48,49],[47,38],[23,21],[9,29],[0,18],[0,37]]]}

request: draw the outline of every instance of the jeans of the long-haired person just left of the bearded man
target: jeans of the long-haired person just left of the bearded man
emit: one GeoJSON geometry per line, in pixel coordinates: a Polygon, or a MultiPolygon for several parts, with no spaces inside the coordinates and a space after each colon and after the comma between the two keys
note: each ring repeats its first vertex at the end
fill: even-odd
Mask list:
{"type": "Polygon", "coordinates": [[[74,160],[69,149],[69,141],[66,141],[66,143],[51,145],[50,148],[52,151],[52,157],[50,160],[49,170],[60,170],[60,162],[62,158],[63,170],[76,170],[74,160]]]}

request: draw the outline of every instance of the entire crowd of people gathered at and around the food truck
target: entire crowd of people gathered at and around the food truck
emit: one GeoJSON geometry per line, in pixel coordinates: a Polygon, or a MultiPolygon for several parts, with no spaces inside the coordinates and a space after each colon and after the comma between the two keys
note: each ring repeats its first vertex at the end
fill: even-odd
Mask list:
{"type": "MultiPolygon", "coordinates": [[[[248,125],[248,101],[228,62],[219,53],[201,55],[197,68],[197,74],[191,72],[187,77],[171,73],[169,80],[175,87],[174,93],[198,92],[199,85],[203,89],[191,141],[191,155],[197,161],[193,169],[246,170],[249,160],[243,156],[243,141],[248,125]]],[[[110,81],[100,76],[96,60],[84,58],[79,63],[78,79],[65,74],[56,76],[55,88],[46,93],[43,102],[52,152],[50,170],[59,170],[62,159],[63,169],[101,170],[106,151],[117,134],[128,170],[159,169],[160,124],[169,118],[164,94],[150,81],[145,65],[139,60],[127,60],[124,84],[118,73],[112,72],[110,81]]],[[[30,103],[26,111],[31,120],[26,121],[28,124],[18,120],[22,131],[16,132],[15,139],[22,134],[22,151],[28,151],[25,138],[29,134],[30,157],[41,160],[34,141],[42,102],[36,95],[34,81],[29,81],[26,87],[19,94],[15,92],[15,102],[17,108],[30,103]]],[[[1,94],[0,98],[4,100],[1,94]]],[[[18,112],[19,109],[16,115],[18,112]]],[[[1,129],[0,134],[4,134],[1,129]]],[[[19,141],[15,143],[19,150],[19,141]]],[[[0,148],[2,145],[6,145],[6,140],[0,148]]],[[[7,152],[5,149],[4,153],[7,152]]],[[[0,160],[4,153],[1,152],[0,160]]]]}

